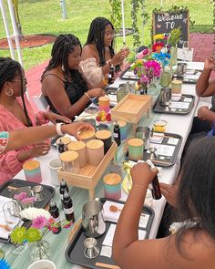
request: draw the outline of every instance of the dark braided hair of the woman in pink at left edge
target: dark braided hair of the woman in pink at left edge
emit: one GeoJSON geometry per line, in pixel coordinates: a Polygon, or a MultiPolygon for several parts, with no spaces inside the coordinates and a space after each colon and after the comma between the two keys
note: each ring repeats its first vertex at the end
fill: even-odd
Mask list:
{"type": "Polygon", "coordinates": [[[23,109],[26,116],[27,126],[32,126],[32,121],[29,118],[27,114],[26,109],[26,102],[25,102],[25,90],[23,85],[23,74],[22,74],[23,68],[21,67],[20,63],[13,60],[10,57],[0,57],[0,91],[3,89],[4,84],[6,81],[12,82],[15,76],[21,77],[21,98],[23,102],[23,109]]]}

